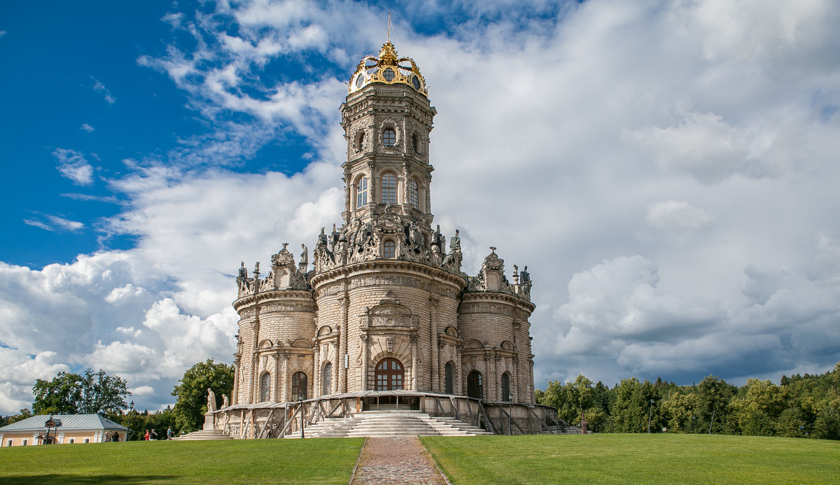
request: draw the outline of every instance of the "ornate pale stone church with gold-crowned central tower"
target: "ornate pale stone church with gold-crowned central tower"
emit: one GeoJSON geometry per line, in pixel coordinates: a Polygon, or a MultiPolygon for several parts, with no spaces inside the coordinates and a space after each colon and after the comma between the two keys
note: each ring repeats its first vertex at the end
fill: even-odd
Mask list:
{"type": "Polygon", "coordinates": [[[342,221],[297,262],[284,243],[264,272],[242,264],[234,391],[215,427],[268,437],[296,413],[415,409],[540,432],[554,413],[534,401],[528,267],[508,279],[490,248],[465,274],[458,231],[433,226],[426,80],[389,40],[348,86],[342,221]]]}

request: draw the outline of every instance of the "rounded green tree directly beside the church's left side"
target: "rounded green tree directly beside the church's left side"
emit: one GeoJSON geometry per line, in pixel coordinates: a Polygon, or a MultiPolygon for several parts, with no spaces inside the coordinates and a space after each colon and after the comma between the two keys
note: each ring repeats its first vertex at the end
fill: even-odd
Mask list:
{"type": "Polygon", "coordinates": [[[177,398],[172,412],[181,432],[188,433],[202,425],[207,412],[207,388],[213,389],[213,394],[216,394],[218,407],[222,394],[229,396],[234,389],[234,366],[216,363],[210,358],[187,369],[172,390],[172,395],[177,398]]]}

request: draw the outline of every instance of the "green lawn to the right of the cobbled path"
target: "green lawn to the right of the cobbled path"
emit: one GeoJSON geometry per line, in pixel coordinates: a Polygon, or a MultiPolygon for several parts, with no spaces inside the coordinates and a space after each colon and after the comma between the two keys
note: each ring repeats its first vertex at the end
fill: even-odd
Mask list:
{"type": "Polygon", "coordinates": [[[423,437],[453,485],[840,483],[840,442],[722,435],[423,437]]]}

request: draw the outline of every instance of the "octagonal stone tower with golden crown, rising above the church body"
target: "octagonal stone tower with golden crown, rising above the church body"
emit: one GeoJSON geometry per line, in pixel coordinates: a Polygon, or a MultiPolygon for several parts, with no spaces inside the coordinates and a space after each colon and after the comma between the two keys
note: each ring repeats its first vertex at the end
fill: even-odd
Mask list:
{"type": "Polygon", "coordinates": [[[368,55],[356,66],[340,110],[347,140],[344,225],[389,211],[428,227],[428,135],[437,112],[414,61],[397,57],[388,40],[379,57],[368,55]]]}

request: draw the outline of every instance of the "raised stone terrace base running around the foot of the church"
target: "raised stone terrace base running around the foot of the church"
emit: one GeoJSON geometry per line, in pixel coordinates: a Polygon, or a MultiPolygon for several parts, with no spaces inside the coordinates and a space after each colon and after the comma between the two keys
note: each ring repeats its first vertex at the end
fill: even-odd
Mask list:
{"type": "Polygon", "coordinates": [[[557,409],[540,404],[487,402],[451,394],[418,391],[359,391],[329,394],[286,403],[234,404],[219,409],[216,427],[235,439],[282,438],[332,418],[348,418],[365,411],[417,410],[434,417],[464,421],[496,435],[574,433],[557,417],[557,409]]]}

